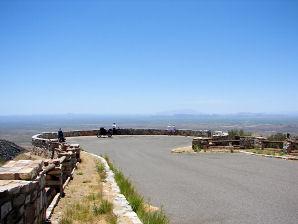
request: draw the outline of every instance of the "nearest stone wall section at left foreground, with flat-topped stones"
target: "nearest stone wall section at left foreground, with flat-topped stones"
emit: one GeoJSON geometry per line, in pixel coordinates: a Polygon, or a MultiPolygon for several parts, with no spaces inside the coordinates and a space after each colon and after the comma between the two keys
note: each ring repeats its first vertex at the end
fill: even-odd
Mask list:
{"type": "Polygon", "coordinates": [[[56,159],[9,161],[0,167],[1,224],[40,224],[48,219],[54,196],[64,195],[65,183],[80,162],[78,144],[58,144],[55,151],[56,159]]]}

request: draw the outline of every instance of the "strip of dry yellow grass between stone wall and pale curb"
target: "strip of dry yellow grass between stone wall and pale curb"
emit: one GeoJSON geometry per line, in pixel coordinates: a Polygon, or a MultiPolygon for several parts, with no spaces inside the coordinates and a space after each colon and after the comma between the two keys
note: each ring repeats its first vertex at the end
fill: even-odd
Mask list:
{"type": "Polygon", "coordinates": [[[65,197],[55,208],[51,220],[61,224],[116,223],[112,204],[102,197],[103,174],[98,172],[98,161],[87,153],[81,153],[81,158],[74,179],[66,188],[65,197]]]}

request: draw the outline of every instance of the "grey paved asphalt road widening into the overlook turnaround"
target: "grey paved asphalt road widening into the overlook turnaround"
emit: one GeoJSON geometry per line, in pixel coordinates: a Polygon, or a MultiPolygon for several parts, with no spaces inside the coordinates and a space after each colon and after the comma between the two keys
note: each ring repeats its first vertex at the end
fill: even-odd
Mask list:
{"type": "Polygon", "coordinates": [[[171,154],[191,138],[69,139],[108,154],[174,224],[298,223],[298,162],[245,154],[171,154]]]}

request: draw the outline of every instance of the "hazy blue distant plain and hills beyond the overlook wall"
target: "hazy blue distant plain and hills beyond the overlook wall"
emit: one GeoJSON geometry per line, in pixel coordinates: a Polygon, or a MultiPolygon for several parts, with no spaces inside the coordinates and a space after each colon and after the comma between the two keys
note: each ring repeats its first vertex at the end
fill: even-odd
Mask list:
{"type": "Polygon", "coordinates": [[[0,116],[0,139],[14,141],[23,146],[31,145],[31,137],[40,132],[90,130],[111,128],[116,122],[120,128],[166,129],[175,124],[177,129],[231,130],[243,129],[257,135],[289,132],[298,135],[298,116],[266,114],[234,115],[144,115],[144,116],[100,116],[100,115],[55,115],[55,116],[0,116]]]}

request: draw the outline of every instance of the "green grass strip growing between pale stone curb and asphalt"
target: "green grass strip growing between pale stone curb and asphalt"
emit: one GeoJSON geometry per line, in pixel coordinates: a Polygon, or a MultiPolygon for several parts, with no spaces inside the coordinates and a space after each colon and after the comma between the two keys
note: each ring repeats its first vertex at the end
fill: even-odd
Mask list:
{"type": "Polygon", "coordinates": [[[121,193],[126,197],[134,212],[144,224],[168,224],[169,219],[161,209],[159,211],[148,211],[145,209],[144,198],[137,192],[129,178],[113,166],[107,156],[104,156],[108,162],[110,169],[115,174],[115,181],[117,182],[121,193]]]}

